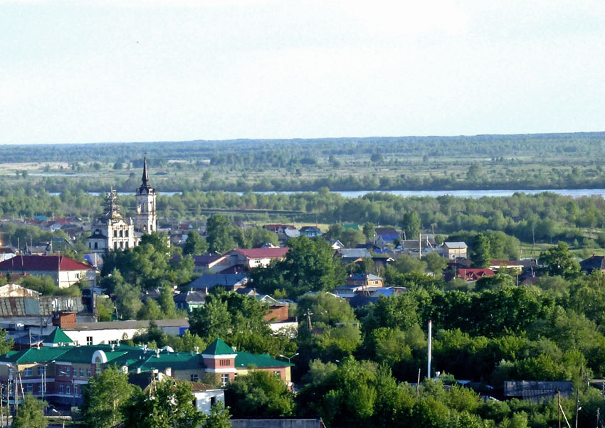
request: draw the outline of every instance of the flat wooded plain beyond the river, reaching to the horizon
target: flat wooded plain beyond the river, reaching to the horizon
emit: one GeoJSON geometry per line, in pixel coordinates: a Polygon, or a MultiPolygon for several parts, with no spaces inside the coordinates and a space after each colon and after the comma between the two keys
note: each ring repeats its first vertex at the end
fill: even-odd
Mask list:
{"type": "Polygon", "coordinates": [[[0,185],[160,191],[605,188],[605,132],[4,146],[0,185]]]}

